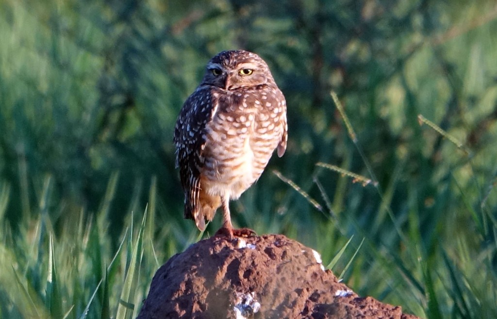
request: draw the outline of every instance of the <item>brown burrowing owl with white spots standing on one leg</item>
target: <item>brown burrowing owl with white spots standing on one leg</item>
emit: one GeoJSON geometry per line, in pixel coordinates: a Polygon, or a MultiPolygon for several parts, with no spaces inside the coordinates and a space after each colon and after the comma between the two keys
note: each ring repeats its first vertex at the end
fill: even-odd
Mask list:
{"type": "Polygon", "coordinates": [[[267,64],[248,51],[223,51],[207,64],[202,83],[184,103],[174,128],[176,167],[185,192],[184,217],[205,229],[219,206],[230,238],[229,200],[262,174],[287,142],[286,102],[267,64]]]}

